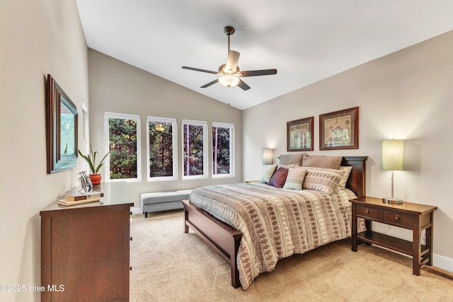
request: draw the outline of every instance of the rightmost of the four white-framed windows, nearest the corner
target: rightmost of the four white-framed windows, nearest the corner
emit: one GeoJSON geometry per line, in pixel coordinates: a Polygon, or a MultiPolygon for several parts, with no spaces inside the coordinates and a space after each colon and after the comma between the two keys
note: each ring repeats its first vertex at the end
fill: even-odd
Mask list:
{"type": "Polygon", "coordinates": [[[234,177],[234,124],[212,122],[212,178],[234,177]]]}

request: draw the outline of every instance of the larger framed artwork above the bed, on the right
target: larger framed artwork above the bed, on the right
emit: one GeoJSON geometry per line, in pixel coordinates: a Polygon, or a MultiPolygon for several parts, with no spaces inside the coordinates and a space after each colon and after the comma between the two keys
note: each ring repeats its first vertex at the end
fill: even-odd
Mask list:
{"type": "Polygon", "coordinates": [[[358,148],[358,107],[319,115],[319,150],[358,148]]]}

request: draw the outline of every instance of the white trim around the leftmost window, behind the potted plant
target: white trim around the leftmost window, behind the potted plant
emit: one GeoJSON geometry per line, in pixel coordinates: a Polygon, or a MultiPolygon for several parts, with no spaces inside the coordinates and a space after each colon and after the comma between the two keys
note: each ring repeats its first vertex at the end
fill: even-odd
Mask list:
{"type": "Polygon", "coordinates": [[[141,182],[142,181],[142,122],[140,115],[130,114],[130,113],[120,113],[120,112],[108,112],[104,111],[104,146],[105,150],[110,150],[110,129],[108,120],[109,119],[122,119],[122,120],[135,120],[136,121],[136,130],[137,130],[137,178],[121,178],[121,179],[110,179],[110,154],[105,158],[104,161],[104,175],[106,182],[141,182]]]}

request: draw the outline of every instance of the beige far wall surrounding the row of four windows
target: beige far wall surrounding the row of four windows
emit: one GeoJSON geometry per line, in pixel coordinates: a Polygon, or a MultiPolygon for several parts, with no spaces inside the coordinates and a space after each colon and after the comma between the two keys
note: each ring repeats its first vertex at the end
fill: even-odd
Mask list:
{"type": "MultiPolygon", "coordinates": [[[[201,185],[241,182],[242,112],[205,95],[149,74],[142,69],[120,62],[96,50],[88,50],[90,87],[90,137],[94,150],[106,152],[104,142],[103,115],[122,112],[140,115],[142,121],[142,182],[130,182],[129,188],[135,207],[139,207],[139,195],[143,192],[192,189],[201,185]],[[147,115],[173,117],[178,122],[178,180],[147,182],[147,115]],[[208,122],[229,122],[235,127],[235,177],[203,180],[181,180],[181,119],[208,122]]],[[[212,140],[209,140],[212,150],[212,140]]],[[[211,175],[212,156],[208,154],[208,170],[211,175]]],[[[101,168],[103,175],[105,171],[101,168]]]]}

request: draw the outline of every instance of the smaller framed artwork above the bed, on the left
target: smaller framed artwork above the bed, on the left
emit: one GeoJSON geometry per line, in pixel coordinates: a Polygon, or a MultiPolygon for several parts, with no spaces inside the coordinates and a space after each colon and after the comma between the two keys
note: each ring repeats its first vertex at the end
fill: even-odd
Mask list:
{"type": "Polygon", "coordinates": [[[287,151],[313,151],[313,120],[306,117],[287,122],[287,151]]]}

